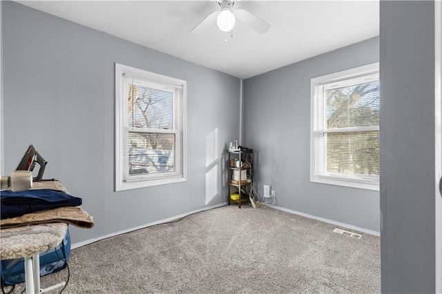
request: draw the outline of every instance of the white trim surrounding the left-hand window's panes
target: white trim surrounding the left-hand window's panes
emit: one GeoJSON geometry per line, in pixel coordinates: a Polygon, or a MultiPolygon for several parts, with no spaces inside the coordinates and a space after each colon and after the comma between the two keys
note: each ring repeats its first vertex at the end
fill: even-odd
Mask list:
{"type": "MultiPolygon", "coordinates": [[[[179,182],[186,182],[186,166],[187,166],[187,156],[186,156],[186,87],[187,82],[181,79],[175,79],[173,77],[167,77],[165,75],[160,75],[155,72],[148,72],[146,70],[140,70],[139,68],[133,68],[131,66],[124,66],[119,63],[115,63],[115,190],[130,190],[135,188],[144,188],[150,186],[158,186],[164,184],[173,184],[179,182]],[[179,108],[182,110],[182,176],[175,173],[163,174],[160,178],[148,178],[145,177],[134,177],[133,181],[124,181],[123,166],[127,163],[127,159],[124,159],[124,148],[122,146],[124,136],[126,132],[122,131],[122,124],[124,124],[124,114],[127,112],[126,103],[124,101],[124,86],[123,86],[123,75],[133,75],[135,77],[142,77],[142,79],[149,79],[151,81],[156,81],[160,84],[169,84],[171,86],[182,88],[182,96],[179,100],[181,104],[179,108]],[[125,112],[126,111],[126,112],[125,112]],[[164,176],[172,177],[164,177],[164,176]]],[[[174,117],[178,115],[173,114],[174,117]]],[[[176,120],[175,120],[176,121],[176,120]]],[[[143,129],[148,130],[148,129],[143,129]]],[[[155,129],[155,132],[157,130],[155,129]]],[[[164,130],[166,132],[166,130],[164,130]]],[[[169,130],[168,133],[174,133],[175,130],[169,130]]],[[[178,144],[177,144],[178,145],[178,144]]],[[[180,167],[180,166],[178,166],[180,167]]]]}

